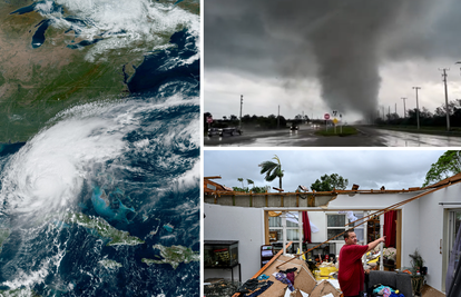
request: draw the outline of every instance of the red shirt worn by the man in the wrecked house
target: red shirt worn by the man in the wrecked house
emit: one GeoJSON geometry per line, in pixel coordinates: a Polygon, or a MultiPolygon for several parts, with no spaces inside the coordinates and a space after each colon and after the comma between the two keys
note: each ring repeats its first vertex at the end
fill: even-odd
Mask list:
{"type": "Polygon", "coordinates": [[[340,269],[337,280],[344,296],[355,296],[363,290],[365,273],[362,266],[362,256],[369,246],[344,245],[340,251],[340,269]]]}

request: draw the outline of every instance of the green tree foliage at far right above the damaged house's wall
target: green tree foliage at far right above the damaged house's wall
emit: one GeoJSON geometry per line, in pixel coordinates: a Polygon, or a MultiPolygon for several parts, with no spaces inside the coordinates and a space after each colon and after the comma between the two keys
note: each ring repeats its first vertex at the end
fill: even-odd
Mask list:
{"type": "Polygon", "coordinates": [[[431,165],[423,187],[441,181],[461,172],[461,154],[459,150],[447,150],[439,160],[431,165]]]}

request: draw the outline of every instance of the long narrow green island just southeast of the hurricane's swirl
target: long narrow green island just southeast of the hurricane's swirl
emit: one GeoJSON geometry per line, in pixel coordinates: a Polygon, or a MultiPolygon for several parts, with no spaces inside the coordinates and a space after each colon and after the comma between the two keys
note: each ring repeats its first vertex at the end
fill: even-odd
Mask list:
{"type": "Polygon", "coordinates": [[[135,236],[130,236],[127,231],[114,228],[109,222],[99,217],[94,218],[84,214],[73,212],[68,214],[65,220],[95,230],[102,238],[109,238],[110,241],[107,246],[136,246],[145,242],[135,236]]]}

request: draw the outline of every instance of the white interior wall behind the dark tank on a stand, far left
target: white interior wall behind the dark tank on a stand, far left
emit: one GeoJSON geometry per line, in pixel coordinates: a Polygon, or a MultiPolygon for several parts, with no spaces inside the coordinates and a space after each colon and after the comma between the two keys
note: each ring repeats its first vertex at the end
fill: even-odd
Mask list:
{"type": "MultiPolygon", "coordinates": [[[[246,281],[261,269],[261,246],[264,245],[264,210],[261,208],[204,205],[204,239],[238,240],[238,261],[242,281],[246,281]]],[[[204,279],[230,279],[229,270],[205,269],[204,279]]],[[[238,280],[238,268],[234,268],[234,280],[238,280]]]]}

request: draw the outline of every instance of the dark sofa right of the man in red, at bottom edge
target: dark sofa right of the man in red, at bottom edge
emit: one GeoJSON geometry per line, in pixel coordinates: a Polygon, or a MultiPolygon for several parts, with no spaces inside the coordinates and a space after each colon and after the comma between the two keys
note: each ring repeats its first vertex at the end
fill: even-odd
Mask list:
{"type": "MultiPolygon", "coordinates": [[[[372,288],[374,285],[390,286],[399,290],[405,297],[412,297],[413,290],[411,285],[411,276],[406,273],[380,271],[371,270],[370,275],[365,276],[365,289],[372,288]]],[[[371,293],[369,291],[369,296],[371,293]]]]}

